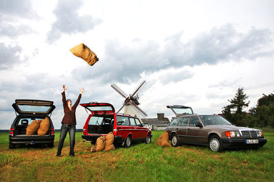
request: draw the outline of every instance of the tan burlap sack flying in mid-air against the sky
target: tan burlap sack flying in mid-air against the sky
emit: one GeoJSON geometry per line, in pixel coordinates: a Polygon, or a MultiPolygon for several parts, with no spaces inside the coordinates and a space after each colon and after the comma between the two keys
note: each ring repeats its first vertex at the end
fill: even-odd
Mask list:
{"type": "Polygon", "coordinates": [[[84,43],[80,43],[79,45],[76,45],[75,47],[72,47],[69,50],[74,56],[77,56],[85,60],[88,64],[90,64],[90,66],[95,64],[95,62],[99,61],[96,54],[93,53],[91,49],[84,43]]]}

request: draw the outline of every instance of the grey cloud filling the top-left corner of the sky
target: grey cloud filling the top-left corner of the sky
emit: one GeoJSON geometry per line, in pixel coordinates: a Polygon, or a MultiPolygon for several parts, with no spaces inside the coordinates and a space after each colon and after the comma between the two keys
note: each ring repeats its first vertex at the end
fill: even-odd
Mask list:
{"type": "Polygon", "coordinates": [[[17,37],[32,33],[28,24],[18,23],[22,19],[38,19],[30,0],[0,1],[0,35],[17,37]]]}

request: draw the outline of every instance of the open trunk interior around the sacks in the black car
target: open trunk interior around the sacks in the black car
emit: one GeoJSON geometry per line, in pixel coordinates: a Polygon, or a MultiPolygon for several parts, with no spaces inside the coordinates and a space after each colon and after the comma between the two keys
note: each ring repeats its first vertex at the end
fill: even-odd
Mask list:
{"type": "MultiPolygon", "coordinates": [[[[25,137],[25,136],[39,136],[37,131],[34,133],[34,135],[26,135],[26,128],[27,126],[34,120],[43,120],[45,119],[46,117],[42,117],[42,118],[20,118],[16,124],[15,124],[15,136],[18,136],[18,137],[25,137]]],[[[50,128],[50,126],[49,126],[50,128]]],[[[46,132],[46,135],[43,135],[43,136],[48,136],[49,135],[49,128],[46,132]]]]}

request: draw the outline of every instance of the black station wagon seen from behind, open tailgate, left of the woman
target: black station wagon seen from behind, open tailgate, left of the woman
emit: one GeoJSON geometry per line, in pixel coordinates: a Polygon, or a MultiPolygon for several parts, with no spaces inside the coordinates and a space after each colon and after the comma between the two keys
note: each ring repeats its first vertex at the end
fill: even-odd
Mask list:
{"type": "Polygon", "coordinates": [[[16,118],[11,124],[9,132],[9,149],[14,149],[17,144],[35,144],[46,143],[48,147],[54,145],[54,127],[50,119],[52,111],[55,109],[53,101],[42,100],[25,100],[18,99],[12,104],[16,114],[16,118]],[[34,135],[26,135],[26,128],[34,120],[43,120],[45,118],[49,120],[49,129],[46,135],[39,136],[36,133],[34,135]]]}

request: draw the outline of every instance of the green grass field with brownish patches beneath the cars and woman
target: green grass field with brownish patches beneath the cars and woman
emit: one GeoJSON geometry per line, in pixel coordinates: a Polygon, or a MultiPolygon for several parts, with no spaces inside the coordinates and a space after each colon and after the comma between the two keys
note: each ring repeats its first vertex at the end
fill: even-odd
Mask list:
{"type": "MultiPolygon", "coordinates": [[[[60,133],[54,148],[8,149],[8,133],[0,133],[0,181],[274,181],[274,132],[264,132],[268,142],[258,150],[214,153],[203,146],[160,147],[163,131],[153,131],[150,144],[91,153],[91,144],[76,132],[75,157],[68,157],[67,136],[56,158],[60,133]]],[[[45,145],[46,146],[46,145],[45,145]]]]}

